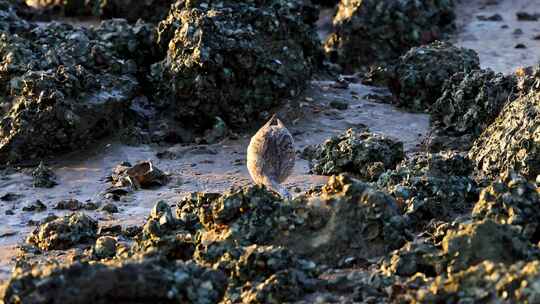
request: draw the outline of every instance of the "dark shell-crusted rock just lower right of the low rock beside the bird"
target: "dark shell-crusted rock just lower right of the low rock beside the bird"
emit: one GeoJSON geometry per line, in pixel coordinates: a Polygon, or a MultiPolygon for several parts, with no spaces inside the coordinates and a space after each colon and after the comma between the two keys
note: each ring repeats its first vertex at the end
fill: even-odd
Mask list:
{"type": "Polygon", "coordinates": [[[417,153],[383,173],[379,189],[401,203],[410,224],[451,220],[471,209],[478,197],[470,160],[457,152],[417,153]]]}

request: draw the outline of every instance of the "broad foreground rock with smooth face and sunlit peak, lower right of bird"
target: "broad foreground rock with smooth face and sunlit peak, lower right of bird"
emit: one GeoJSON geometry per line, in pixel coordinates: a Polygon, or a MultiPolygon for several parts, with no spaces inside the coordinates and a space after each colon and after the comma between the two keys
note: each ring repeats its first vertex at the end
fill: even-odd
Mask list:
{"type": "Polygon", "coordinates": [[[409,238],[396,201],[348,175],[332,176],[320,193],[302,199],[307,208],[297,213],[305,224],[278,240],[316,262],[337,266],[377,257],[409,238]]]}

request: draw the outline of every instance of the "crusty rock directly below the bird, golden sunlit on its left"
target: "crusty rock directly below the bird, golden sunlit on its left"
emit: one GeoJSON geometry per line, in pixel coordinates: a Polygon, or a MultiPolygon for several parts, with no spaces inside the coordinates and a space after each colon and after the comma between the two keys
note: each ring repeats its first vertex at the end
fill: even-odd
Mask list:
{"type": "Polygon", "coordinates": [[[300,221],[294,209],[294,202],[283,201],[264,186],[251,186],[222,195],[192,194],[178,203],[177,214],[192,227],[204,228],[203,240],[247,246],[270,244],[293,228],[300,221]]]}

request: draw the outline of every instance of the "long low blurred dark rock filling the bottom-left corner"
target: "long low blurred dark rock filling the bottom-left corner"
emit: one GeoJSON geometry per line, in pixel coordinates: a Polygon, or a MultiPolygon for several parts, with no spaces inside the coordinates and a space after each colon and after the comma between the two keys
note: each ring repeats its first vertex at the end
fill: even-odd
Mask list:
{"type": "Polygon", "coordinates": [[[10,304],[211,304],[222,299],[227,280],[193,262],[146,258],[16,270],[6,284],[3,301],[10,304]]]}

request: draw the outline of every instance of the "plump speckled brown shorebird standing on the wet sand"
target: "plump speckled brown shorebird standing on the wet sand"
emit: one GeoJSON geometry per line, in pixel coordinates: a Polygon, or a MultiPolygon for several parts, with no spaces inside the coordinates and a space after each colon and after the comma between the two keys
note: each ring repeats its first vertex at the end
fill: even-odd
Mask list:
{"type": "Polygon", "coordinates": [[[256,184],[290,199],[289,191],[281,183],[291,175],[294,157],[293,137],[274,114],[251,138],[247,150],[249,175],[256,184]]]}

